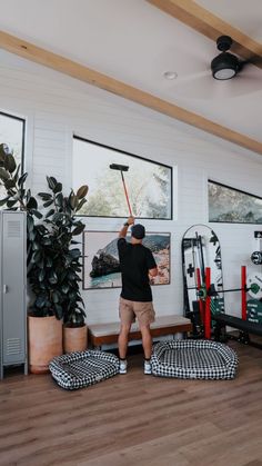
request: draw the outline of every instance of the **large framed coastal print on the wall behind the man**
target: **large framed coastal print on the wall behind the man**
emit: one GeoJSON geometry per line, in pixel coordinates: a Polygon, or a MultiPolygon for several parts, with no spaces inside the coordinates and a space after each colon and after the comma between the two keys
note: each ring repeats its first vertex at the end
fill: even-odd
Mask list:
{"type": "MultiPolygon", "coordinates": [[[[131,236],[127,236],[130,241],[131,236]]],[[[151,285],[170,284],[170,232],[147,232],[143,245],[158,265],[159,275],[151,285]]],[[[83,232],[83,289],[120,288],[118,231],[83,232]]]]}

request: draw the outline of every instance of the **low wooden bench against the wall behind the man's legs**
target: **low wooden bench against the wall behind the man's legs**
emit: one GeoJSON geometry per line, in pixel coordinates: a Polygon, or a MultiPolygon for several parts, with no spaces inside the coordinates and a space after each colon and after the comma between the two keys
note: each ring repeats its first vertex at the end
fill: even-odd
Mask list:
{"type": "MultiPolygon", "coordinates": [[[[120,323],[90,324],[88,325],[89,343],[93,347],[118,343],[119,330],[120,323]]],[[[180,333],[188,334],[188,331],[192,331],[191,320],[182,316],[160,316],[151,324],[153,338],[180,333]]],[[[131,327],[129,340],[140,339],[142,336],[135,323],[131,327]]]]}

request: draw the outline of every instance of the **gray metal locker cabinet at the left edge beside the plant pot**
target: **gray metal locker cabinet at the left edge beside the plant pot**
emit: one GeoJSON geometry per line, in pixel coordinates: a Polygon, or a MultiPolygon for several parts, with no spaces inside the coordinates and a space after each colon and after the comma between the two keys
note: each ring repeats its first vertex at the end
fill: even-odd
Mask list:
{"type": "Polygon", "coordinates": [[[0,379],[4,366],[27,363],[27,215],[0,212],[0,379]]]}

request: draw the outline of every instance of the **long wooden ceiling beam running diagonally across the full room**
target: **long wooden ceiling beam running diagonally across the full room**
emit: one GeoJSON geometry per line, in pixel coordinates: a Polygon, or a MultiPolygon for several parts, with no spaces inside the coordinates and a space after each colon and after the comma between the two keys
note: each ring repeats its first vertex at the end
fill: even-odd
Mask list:
{"type": "Polygon", "coordinates": [[[262,142],[3,31],[0,48],[262,155],[262,142]]]}

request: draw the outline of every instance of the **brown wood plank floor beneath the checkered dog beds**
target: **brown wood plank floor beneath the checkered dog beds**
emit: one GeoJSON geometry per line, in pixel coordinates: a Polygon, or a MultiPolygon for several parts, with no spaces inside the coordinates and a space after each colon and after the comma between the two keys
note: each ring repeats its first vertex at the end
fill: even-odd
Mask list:
{"type": "Polygon", "coordinates": [[[232,341],[234,380],[129,373],[67,391],[49,375],[0,383],[0,465],[262,466],[262,350],[232,341]]]}

